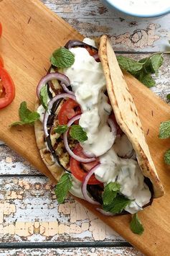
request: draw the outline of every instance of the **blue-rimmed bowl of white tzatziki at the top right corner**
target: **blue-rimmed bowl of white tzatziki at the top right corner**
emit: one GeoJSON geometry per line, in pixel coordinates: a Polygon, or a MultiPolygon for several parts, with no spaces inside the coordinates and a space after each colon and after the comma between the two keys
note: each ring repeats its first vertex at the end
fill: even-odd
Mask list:
{"type": "Polygon", "coordinates": [[[170,13],[170,0],[103,0],[103,3],[135,17],[158,17],[170,13]]]}

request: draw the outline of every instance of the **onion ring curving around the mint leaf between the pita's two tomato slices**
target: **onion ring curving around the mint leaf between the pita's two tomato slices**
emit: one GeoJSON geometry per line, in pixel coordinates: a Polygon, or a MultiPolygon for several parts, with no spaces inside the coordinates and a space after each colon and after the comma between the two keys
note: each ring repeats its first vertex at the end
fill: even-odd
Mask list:
{"type": "MultiPolygon", "coordinates": [[[[70,127],[70,125],[72,125],[72,123],[74,123],[76,120],[80,119],[80,117],[81,117],[81,115],[75,115],[73,118],[71,118],[69,120],[69,122],[67,123],[67,126],[70,127]]],[[[68,154],[70,154],[70,156],[72,156],[72,158],[74,158],[78,162],[90,163],[90,162],[95,161],[95,157],[92,157],[92,158],[82,158],[80,156],[77,156],[74,152],[72,152],[72,150],[70,149],[70,146],[68,144],[67,133],[68,133],[68,131],[66,131],[63,134],[63,141],[64,141],[64,144],[65,144],[65,149],[67,150],[68,154]]]]}

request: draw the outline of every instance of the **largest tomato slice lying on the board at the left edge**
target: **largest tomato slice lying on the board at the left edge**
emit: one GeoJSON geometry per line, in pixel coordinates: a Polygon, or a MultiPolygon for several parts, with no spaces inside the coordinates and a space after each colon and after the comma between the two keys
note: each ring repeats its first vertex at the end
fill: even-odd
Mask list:
{"type": "Polygon", "coordinates": [[[9,105],[15,97],[14,82],[8,72],[0,67],[0,109],[9,105]]]}

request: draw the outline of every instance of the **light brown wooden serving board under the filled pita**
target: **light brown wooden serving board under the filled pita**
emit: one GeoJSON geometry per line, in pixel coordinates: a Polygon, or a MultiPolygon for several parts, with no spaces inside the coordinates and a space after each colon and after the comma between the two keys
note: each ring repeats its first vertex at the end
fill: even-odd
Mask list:
{"type": "MultiPolygon", "coordinates": [[[[14,102],[0,110],[0,139],[55,181],[39,156],[34,128],[9,128],[9,124],[18,120],[20,102],[25,100],[28,107],[34,109],[35,89],[49,67],[52,51],[60,45],[65,45],[67,40],[82,39],[82,35],[38,0],[1,0],[0,13],[0,21],[3,24],[0,53],[16,85],[14,102]]],[[[170,107],[133,76],[125,76],[166,195],[154,200],[151,207],[139,213],[145,227],[141,236],[133,234],[129,229],[130,215],[105,217],[95,211],[89,203],[77,200],[146,255],[170,255],[170,167],[163,161],[164,151],[170,148],[170,140],[158,138],[159,124],[169,120],[170,107]]]]}

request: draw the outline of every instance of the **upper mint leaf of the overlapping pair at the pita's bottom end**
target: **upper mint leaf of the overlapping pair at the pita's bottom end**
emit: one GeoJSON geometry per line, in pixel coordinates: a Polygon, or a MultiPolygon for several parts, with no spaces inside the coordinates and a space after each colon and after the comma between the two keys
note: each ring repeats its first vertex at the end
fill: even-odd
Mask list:
{"type": "Polygon", "coordinates": [[[121,185],[118,182],[110,182],[105,186],[103,192],[103,204],[109,205],[120,191],[121,185]]]}

